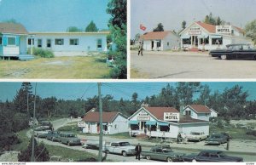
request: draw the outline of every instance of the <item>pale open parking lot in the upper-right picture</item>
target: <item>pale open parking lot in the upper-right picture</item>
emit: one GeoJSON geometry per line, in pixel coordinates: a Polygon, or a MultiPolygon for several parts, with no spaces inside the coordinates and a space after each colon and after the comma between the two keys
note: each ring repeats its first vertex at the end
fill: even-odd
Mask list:
{"type": "Polygon", "coordinates": [[[254,60],[218,60],[208,52],[131,51],[131,78],[255,78],[255,69],[254,60]]]}

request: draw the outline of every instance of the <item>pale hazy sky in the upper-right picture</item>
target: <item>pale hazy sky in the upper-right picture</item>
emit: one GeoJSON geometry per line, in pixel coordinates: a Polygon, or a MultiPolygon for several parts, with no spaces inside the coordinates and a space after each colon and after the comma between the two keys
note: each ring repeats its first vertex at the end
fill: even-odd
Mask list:
{"type": "Polygon", "coordinates": [[[158,23],[165,30],[179,31],[183,20],[187,26],[195,20],[204,20],[207,14],[244,27],[256,19],[256,0],[131,0],[131,38],[140,30],[139,25],[153,31],[158,23]]]}

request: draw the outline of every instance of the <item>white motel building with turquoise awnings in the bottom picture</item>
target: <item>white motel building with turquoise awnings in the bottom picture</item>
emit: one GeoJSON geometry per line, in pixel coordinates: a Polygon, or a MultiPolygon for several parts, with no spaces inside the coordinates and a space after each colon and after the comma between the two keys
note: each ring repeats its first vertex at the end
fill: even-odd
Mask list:
{"type": "Polygon", "coordinates": [[[129,120],[131,135],[177,138],[178,133],[204,132],[209,135],[209,122],[180,114],[173,107],[141,107],[129,120]]]}

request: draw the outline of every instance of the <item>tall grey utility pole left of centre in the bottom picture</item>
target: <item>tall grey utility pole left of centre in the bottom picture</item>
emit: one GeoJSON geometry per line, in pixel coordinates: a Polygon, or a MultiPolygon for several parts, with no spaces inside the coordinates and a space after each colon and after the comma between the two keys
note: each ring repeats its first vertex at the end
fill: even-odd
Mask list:
{"type": "Polygon", "coordinates": [[[98,162],[102,162],[102,92],[101,92],[102,83],[98,83],[98,95],[99,95],[99,108],[100,108],[100,138],[99,138],[99,157],[98,162]]]}

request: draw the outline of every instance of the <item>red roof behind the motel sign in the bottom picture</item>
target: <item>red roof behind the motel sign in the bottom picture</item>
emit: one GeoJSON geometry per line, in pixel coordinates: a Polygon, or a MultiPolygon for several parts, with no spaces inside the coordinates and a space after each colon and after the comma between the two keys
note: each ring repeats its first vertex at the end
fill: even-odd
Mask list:
{"type": "Polygon", "coordinates": [[[179,111],[173,107],[144,107],[144,109],[150,112],[158,120],[164,120],[164,112],[179,113],[179,111]]]}

